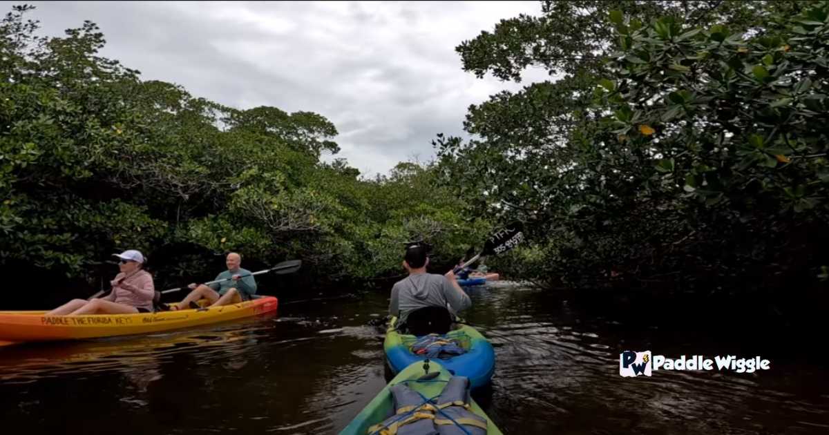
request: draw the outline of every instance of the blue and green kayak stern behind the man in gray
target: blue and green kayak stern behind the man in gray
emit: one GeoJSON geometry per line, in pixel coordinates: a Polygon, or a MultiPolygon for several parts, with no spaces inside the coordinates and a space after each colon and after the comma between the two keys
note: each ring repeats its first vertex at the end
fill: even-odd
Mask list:
{"type": "MultiPolygon", "coordinates": [[[[395,374],[400,373],[414,362],[422,362],[426,359],[425,355],[412,353],[411,346],[418,341],[418,337],[400,334],[395,329],[396,325],[397,317],[392,317],[383,342],[386,360],[395,374]]],[[[463,355],[453,355],[445,359],[431,358],[430,360],[439,361],[453,375],[468,377],[473,389],[488,384],[495,372],[495,350],[492,349],[492,343],[472,326],[457,323],[445,337],[457,341],[466,352],[463,355]]]]}

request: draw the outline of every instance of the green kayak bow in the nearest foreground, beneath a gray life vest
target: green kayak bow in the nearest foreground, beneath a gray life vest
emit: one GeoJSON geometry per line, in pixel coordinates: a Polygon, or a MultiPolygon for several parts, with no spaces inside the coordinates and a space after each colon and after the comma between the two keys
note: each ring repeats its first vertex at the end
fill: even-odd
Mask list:
{"type": "MultiPolygon", "coordinates": [[[[414,429],[415,424],[434,424],[435,427],[455,429],[457,433],[487,433],[487,435],[502,433],[492,422],[492,418],[489,418],[487,413],[484,413],[483,409],[475,403],[475,400],[468,397],[468,394],[461,395],[465,395],[468,399],[465,405],[468,405],[468,412],[474,415],[469,416],[467,414],[466,418],[463,418],[463,416],[458,418],[458,411],[460,413],[466,412],[465,409],[459,409],[463,405],[450,407],[448,406],[448,399],[444,397],[447,394],[446,389],[448,389],[447,385],[452,379],[452,374],[442,366],[442,361],[429,360],[429,373],[424,371],[423,366],[423,363],[416,362],[401,370],[400,374],[396,375],[395,379],[391,379],[389,384],[381,389],[380,393],[366,405],[366,408],[363,408],[351,420],[351,423],[342,429],[340,435],[383,433],[381,430],[388,431],[389,427],[395,423],[399,425],[395,428],[411,426],[410,429],[414,429]],[[395,413],[395,398],[392,394],[392,388],[400,384],[414,390],[418,394],[418,399],[415,399],[417,403],[411,407],[398,406],[395,413]],[[473,418],[477,420],[474,423],[477,426],[469,423],[473,418]],[[407,421],[408,423],[405,423],[407,421]],[[457,428],[453,427],[453,425],[456,425],[455,422],[467,424],[464,425],[465,428],[457,428]]],[[[434,429],[431,430],[434,431],[434,429]]],[[[400,430],[397,432],[400,433],[400,430]]],[[[388,433],[394,432],[390,431],[388,433]]]]}

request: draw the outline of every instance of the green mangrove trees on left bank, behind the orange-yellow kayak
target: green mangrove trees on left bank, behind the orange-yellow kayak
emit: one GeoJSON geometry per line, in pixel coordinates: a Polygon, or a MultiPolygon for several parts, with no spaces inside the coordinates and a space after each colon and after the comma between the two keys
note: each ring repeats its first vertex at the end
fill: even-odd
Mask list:
{"type": "MultiPolygon", "coordinates": [[[[160,282],[212,276],[214,254],[301,258],[335,278],[400,273],[411,239],[447,262],[489,230],[433,166],[361,179],[312,112],[234,109],[99,56],[92,22],[36,36],[32,7],[0,24],[0,264],[89,278],[142,249],[160,282]],[[156,261],[153,261],[155,259],[156,261]]],[[[454,259],[454,260],[453,260],[454,259]]],[[[252,265],[251,264],[251,265],[252,265]]]]}

